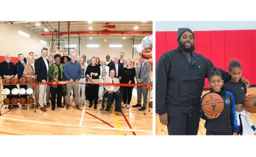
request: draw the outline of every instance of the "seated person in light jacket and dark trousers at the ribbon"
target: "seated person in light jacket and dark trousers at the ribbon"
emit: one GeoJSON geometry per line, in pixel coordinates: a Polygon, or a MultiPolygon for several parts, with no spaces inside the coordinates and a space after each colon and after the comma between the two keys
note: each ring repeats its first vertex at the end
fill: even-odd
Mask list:
{"type": "MultiPolygon", "coordinates": [[[[110,76],[105,78],[105,83],[119,83],[119,79],[115,78],[115,71],[112,69],[110,71],[110,76]]],[[[115,99],[115,110],[114,112],[121,112],[121,92],[119,91],[120,86],[105,85],[105,90],[107,91],[104,96],[107,97],[107,108],[106,111],[110,111],[112,102],[115,99]]]]}

